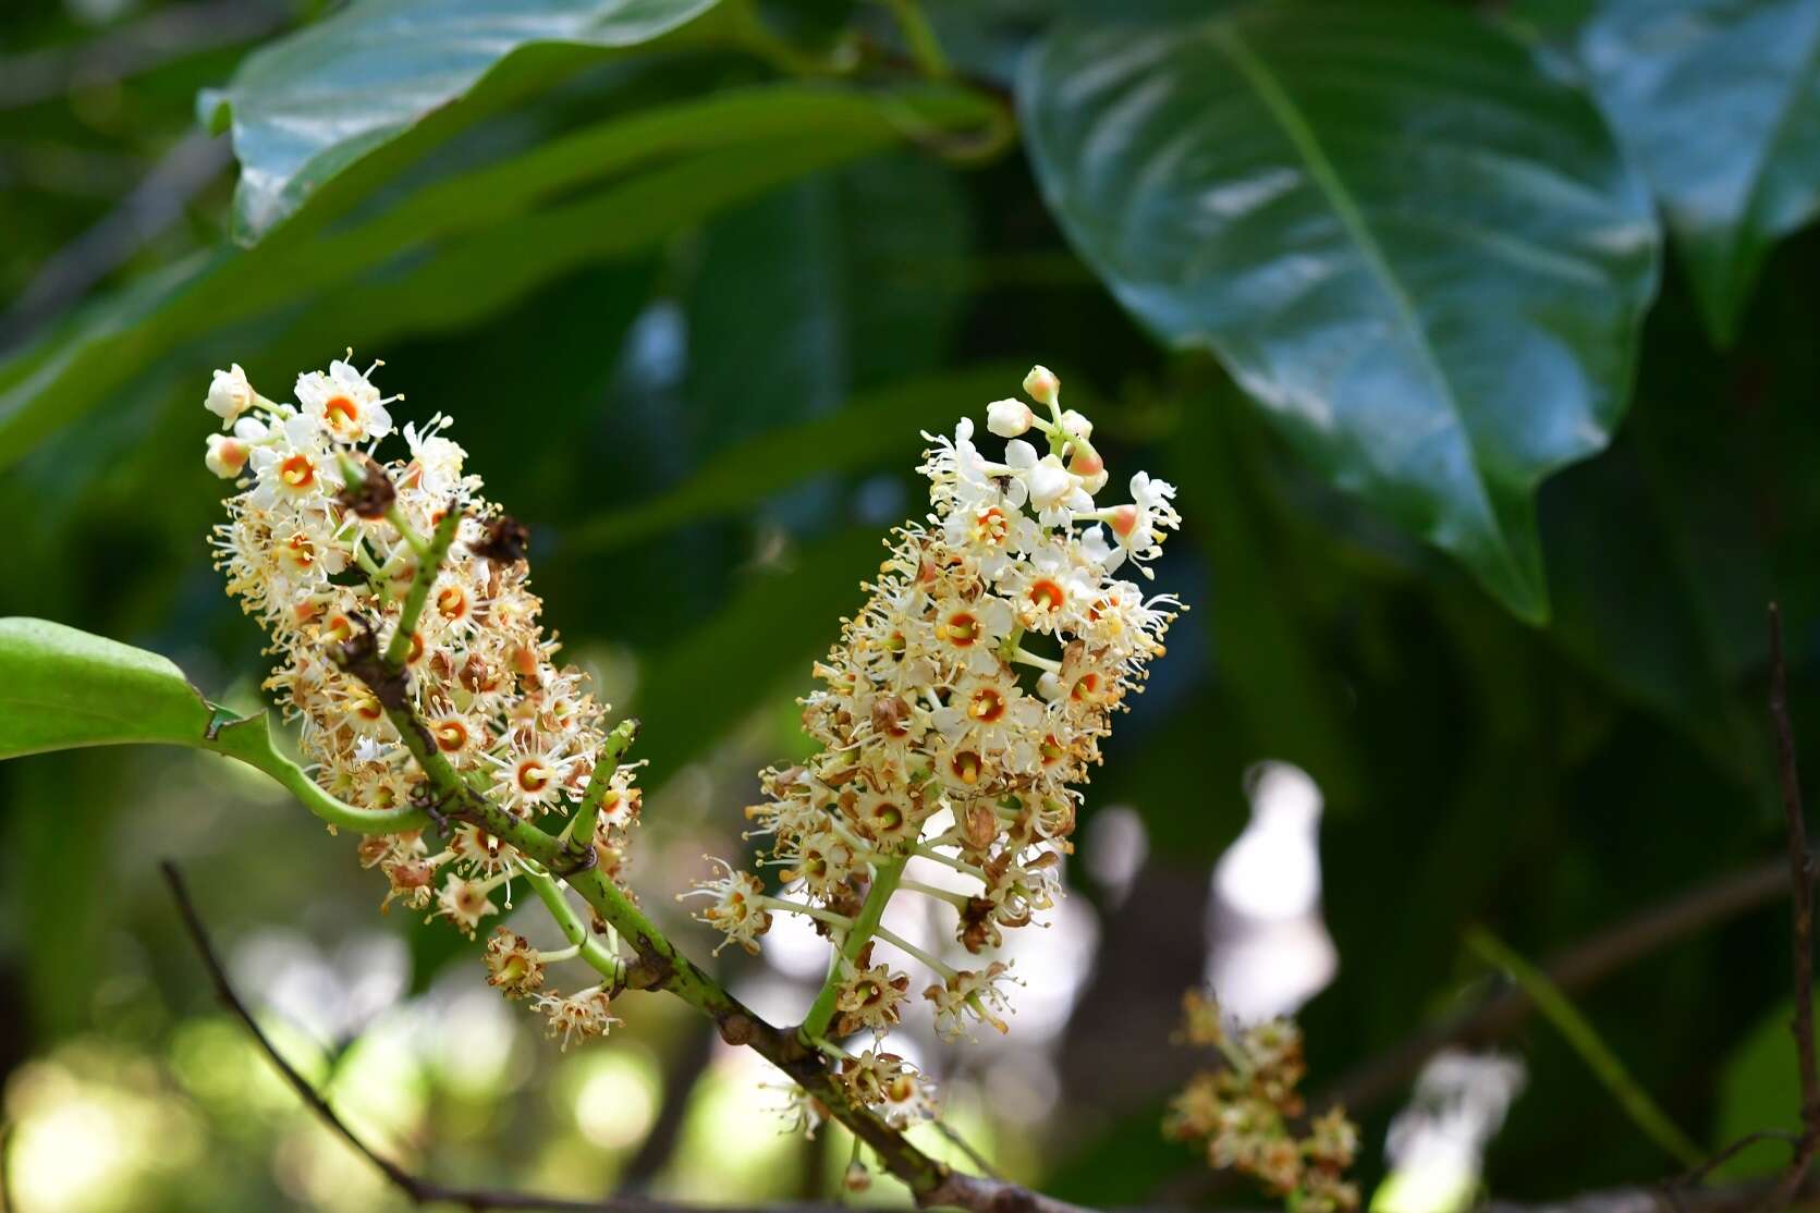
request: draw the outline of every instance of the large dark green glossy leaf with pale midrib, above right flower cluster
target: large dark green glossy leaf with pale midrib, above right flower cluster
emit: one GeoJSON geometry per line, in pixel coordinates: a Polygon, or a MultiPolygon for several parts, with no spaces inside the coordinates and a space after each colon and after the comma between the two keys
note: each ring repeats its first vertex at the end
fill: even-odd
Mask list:
{"type": "Polygon", "coordinates": [[[1658,275],[1596,111],[1414,5],[1063,24],[1019,80],[1050,207],[1334,484],[1547,617],[1534,489],[1623,411],[1658,275]]]}

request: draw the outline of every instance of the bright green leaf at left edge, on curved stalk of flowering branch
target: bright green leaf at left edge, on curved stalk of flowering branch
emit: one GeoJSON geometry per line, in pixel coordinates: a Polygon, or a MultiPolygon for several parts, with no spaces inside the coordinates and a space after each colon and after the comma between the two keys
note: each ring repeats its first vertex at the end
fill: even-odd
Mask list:
{"type": "Polygon", "coordinates": [[[42,618],[0,618],[0,758],[78,746],[200,746],[215,711],[157,653],[42,618]]]}

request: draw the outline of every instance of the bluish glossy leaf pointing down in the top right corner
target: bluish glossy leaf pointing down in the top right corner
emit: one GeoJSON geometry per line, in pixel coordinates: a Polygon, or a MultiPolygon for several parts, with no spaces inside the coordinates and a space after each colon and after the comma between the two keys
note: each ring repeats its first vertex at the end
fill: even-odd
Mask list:
{"type": "Polygon", "coordinates": [[[1820,0],[1605,0],[1580,56],[1729,344],[1769,246],[1820,211],[1820,0]]]}

